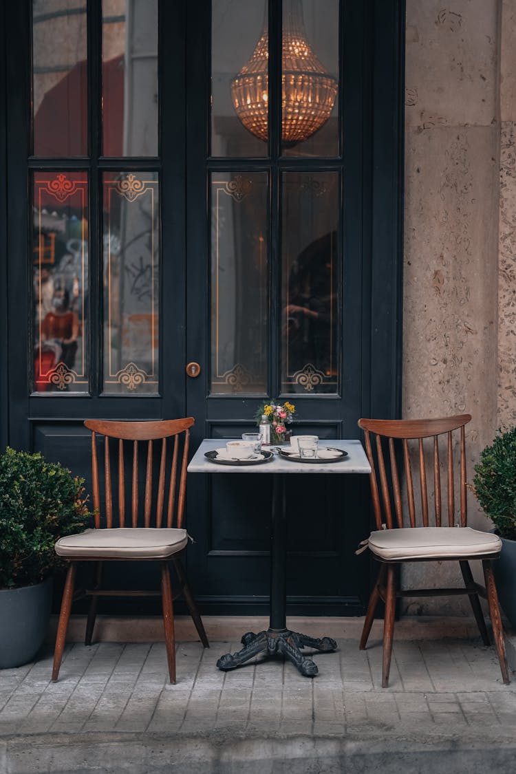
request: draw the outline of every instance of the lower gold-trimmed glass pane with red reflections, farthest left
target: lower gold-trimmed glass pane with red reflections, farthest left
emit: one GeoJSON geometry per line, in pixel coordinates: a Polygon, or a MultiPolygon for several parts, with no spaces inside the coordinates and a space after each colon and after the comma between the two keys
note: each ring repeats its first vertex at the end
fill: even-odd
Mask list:
{"type": "Polygon", "coordinates": [[[87,174],[37,172],[32,195],[32,389],[87,392],[87,174]]]}

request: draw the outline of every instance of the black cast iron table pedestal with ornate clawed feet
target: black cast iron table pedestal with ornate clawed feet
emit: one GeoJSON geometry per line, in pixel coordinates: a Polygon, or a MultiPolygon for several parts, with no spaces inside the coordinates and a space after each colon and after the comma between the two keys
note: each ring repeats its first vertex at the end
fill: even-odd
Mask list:
{"type": "Polygon", "coordinates": [[[259,653],[283,656],[295,664],[299,672],[313,677],[319,671],[316,663],[302,655],[302,648],[322,652],[337,649],[337,642],[330,637],[314,639],[286,628],[286,580],[287,580],[287,517],[285,498],[285,474],[275,473],[272,481],[271,524],[271,615],[269,627],[264,632],[247,632],[241,639],[244,646],[236,653],[220,656],[220,670],[233,670],[259,653]]]}

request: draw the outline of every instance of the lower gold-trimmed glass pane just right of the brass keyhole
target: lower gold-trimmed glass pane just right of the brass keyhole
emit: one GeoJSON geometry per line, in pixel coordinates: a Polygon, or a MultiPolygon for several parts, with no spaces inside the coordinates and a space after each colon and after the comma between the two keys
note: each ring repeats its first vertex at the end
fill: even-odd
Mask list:
{"type": "Polygon", "coordinates": [[[211,392],[264,395],[268,176],[211,177],[211,392]]]}

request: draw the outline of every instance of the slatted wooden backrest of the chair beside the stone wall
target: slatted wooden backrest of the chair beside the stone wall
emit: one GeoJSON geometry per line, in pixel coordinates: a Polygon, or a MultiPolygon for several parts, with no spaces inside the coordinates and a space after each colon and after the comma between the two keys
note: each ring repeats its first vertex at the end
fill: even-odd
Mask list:
{"type": "Polygon", "coordinates": [[[432,495],[434,499],[435,526],[454,526],[456,478],[458,478],[460,526],[466,526],[466,433],[464,426],[470,420],[470,414],[448,416],[436,420],[359,420],[358,425],[364,430],[367,457],[371,464],[371,496],[377,529],[382,528],[382,523],[388,529],[393,526],[434,526],[429,523],[429,495],[432,495]],[[458,462],[453,459],[454,430],[460,431],[456,433],[460,439],[458,462]],[[433,439],[432,443],[427,442],[426,447],[423,444],[425,438],[433,439]],[[410,441],[412,444],[409,443],[410,441]],[[439,446],[441,447],[440,451],[439,446]],[[388,452],[388,467],[385,464],[385,450],[388,452]],[[447,519],[446,516],[443,518],[442,456],[446,457],[447,519]],[[415,474],[412,470],[411,457],[415,458],[415,474]],[[398,467],[402,468],[402,475],[400,475],[398,467]],[[428,467],[432,469],[430,477],[427,476],[428,467]],[[458,473],[457,476],[455,471],[458,473]],[[406,485],[408,522],[404,521],[403,518],[401,483],[403,474],[406,485]],[[417,488],[419,488],[421,495],[420,522],[416,520],[415,490],[417,488]],[[393,519],[393,512],[396,523],[393,519]]]}

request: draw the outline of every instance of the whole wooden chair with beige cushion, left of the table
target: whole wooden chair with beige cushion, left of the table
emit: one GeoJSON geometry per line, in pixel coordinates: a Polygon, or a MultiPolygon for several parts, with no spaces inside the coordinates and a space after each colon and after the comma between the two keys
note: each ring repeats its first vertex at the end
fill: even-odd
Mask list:
{"type": "MultiPolygon", "coordinates": [[[[179,556],[186,548],[188,536],[183,529],[183,515],[186,498],[186,464],[191,417],[184,420],[166,420],[159,422],[109,422],[87,420],[85,426],[91,430],[91,456],[93,472],[93,504],[95,509],[95,529],[60,538],[56,543],[56,553],[70,562],[63,591],[63,601],[57,628],[56,649],[53,660],[52,679],[57,680],[60,670],[63,648],[70,618],[73,599],[91,596],[87,616],[85,644],[91,645],[97,599],[107,596],[156,596],[162,597],[163,622],[165,625],[166,655],[169,664],[170,682],[176,682],[176,645],[174,637],[173,601],[183,593],[193,623],[205,648],[209,647],[203,622],[196,602],[186,583],[186,574],[179,556]],[[101,495],[99,488],[99,464],[97,455],[97,433],[104,436],[104,490],[105,490],[105,526],[101,524],[101,495]],[[170,444],[172,462],[167,454],[167,439],[170,444]],[[118,477],[111,475],[110,439],[118,440],[118,477]],[[179,440],[182,440],[183,451],[179,440]],[[154,441],[161,440],[159,459],[159,480],[157,489],[152,488],[152,459],[154,441]],[[125,441],[132,441],[132,471],[125,475],[125,441]],[[138,526],[140,499],[138,487],[138,442],[147,442],[145,491],[143,494],[143,526],[138,526]],[[169,474],[167,476],[167,468],[169,474]],[[179,472],[179,476],[178,476],[179,472]],[[113,478],[118,478],[118,495],[114,498],[113,478]],[[169,478],[166,498],[166,478],[169,478]],[[131,492],[131,518],[126,522],[125,500],[126,482],[131,492]],[[154,501],[154,507],[152,502],[154,501]],[[114,511],[118,502],[118,526],[114,526],[114,511]],[[164,510],[166,508],[166,526],[164,510]],[[153,515],[153,519],[151,519],[153,515]],[[154,526],[151,526],[153,523],[154,526]],[[173,524],[176,524],[174,527],[173,524]],[[161,591],[110,591],[101,588],[102,563],[104,561],[157,561],[161,564],[161,591]],[[73,594],[77,563],[92,561],[97,563],[97,582],[93,589],[73,594]],[[173,594],[170,582],[169,563],[172,562],[179,580],[179,590],[173,594]]],[[[127,492],[128,494],[128,492],[127,492]]]]}

